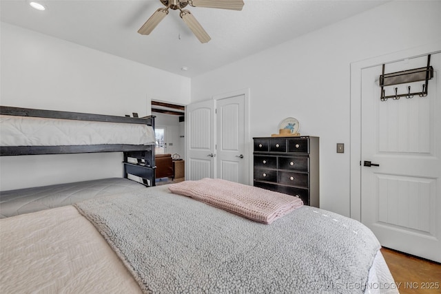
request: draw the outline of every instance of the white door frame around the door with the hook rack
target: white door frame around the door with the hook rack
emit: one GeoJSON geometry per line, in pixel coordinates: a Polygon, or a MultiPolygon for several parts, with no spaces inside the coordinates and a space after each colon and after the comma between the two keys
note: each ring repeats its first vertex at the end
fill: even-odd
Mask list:
{"type": "MultiPolygon", "coordinates": [[[[362,70],[368,67],[382,65],[383,63],[393,63],[405,59],[435,54],[441,52],[441,41],[422,45],[416,48],[384,54],[363,61],[351,63],[351,132],[350,132],[350,196],[349,196],[349,216],[361,222],[361,98],[362,98],[362,70]]],[[[380,88],[378,88],[380,89],[380,88]]],[[[380,95],[380,90],[378,90],[380,95]]]]}

